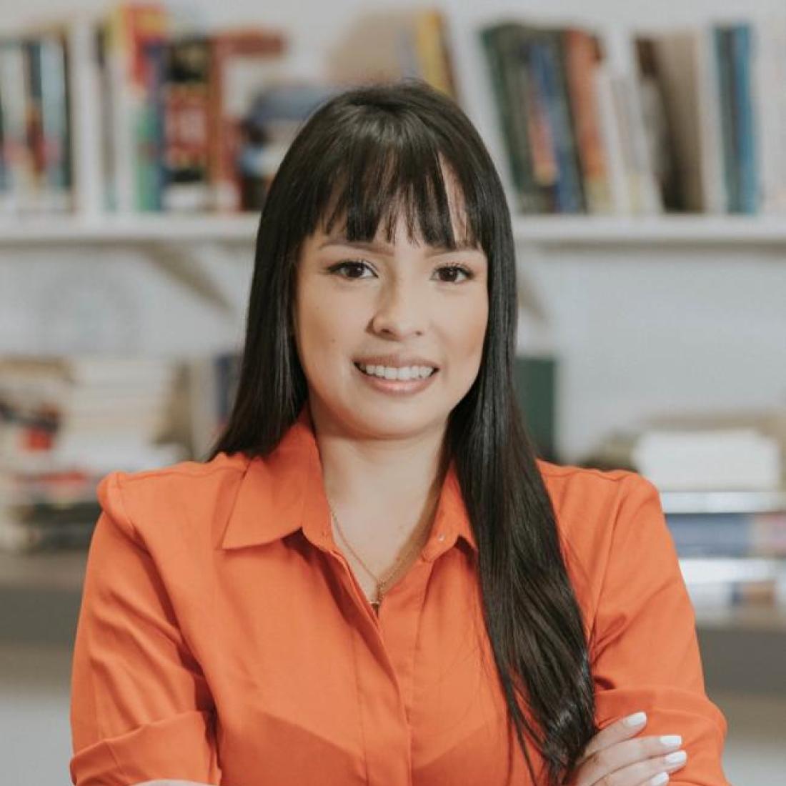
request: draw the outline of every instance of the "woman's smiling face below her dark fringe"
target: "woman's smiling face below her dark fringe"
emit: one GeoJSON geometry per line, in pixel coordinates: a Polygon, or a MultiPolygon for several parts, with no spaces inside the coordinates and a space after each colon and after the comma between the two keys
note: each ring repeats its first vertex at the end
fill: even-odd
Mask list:
{"type": "MultiPolygon", "coordinates": [[[[455,214],[454,233],[461,237],[455,214]]],[[[381,234],[380,222],[373,244],[322,229],[304,241],[293,316],[310,409],[320,428],[362,437],[442,433],[478,373],[487,258],[479,248],[410,243],[400,216],[390,246],[381,234]],[[358,369],[364,361],[383,378],[358,369]],[[390,379],[412,365],[437,370],[428,380],[390,379]]]]}

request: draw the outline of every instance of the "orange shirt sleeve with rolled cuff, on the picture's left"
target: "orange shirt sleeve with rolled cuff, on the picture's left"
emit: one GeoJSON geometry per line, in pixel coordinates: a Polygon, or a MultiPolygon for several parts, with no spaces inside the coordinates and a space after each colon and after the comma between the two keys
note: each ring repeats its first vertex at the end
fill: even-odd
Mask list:
{"type": "Polygon", "coordinates": [[[158,779],[219,784],[215,706],[143,538],[123,474],[98,487],[72,662],[75,786],[158,779]]]}

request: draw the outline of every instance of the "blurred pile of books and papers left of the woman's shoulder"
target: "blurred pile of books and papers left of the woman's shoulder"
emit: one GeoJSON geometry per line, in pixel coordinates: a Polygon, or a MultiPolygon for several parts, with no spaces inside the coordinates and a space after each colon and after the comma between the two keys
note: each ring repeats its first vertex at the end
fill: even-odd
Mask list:
{"type": "Polygon", "coordinates": [[[163,441],[176,373],[153,358],[0,359],[0,549],[84,547],[103,476],[185,457],[163,441]]]}

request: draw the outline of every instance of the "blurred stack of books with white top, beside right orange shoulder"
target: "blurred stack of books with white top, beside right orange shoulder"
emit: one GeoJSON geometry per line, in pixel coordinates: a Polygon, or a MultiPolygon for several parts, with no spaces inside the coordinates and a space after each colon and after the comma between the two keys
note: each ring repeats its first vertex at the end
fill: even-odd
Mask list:
{"type": "Polygon", "coordinates": [[[656,485],[696,608],[786,609],[786,410],[652,417],[582,465],[656,485]]]}

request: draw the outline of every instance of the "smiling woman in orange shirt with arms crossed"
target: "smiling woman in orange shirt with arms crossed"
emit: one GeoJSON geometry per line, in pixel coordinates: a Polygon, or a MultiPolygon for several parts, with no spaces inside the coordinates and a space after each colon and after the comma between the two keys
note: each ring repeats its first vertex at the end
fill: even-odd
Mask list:
{"type": "Polygon", "coordinates": [[[75,784],[725,786],[657,490],[535,456],[516,314],[457,105],[405,80],[318,108],[211,454],[98,488],[75,784]]]}

